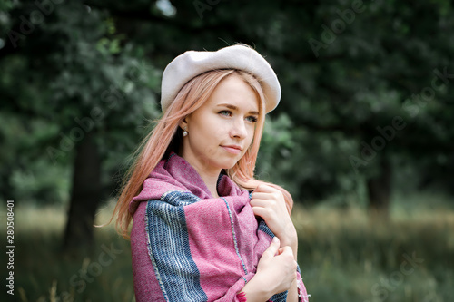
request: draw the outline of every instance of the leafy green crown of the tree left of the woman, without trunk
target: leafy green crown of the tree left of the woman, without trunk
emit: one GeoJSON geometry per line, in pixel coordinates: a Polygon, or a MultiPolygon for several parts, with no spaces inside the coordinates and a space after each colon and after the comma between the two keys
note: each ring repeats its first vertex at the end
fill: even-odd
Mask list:
{"type": "MultiPolygon", "coordinates": [[[[14,11],[11,28],[20,29],[20,16],[27,18],[31,9],[36,7],[14,11]]],[[[141,127],[157,116],[154,92],[160,78],[140,47],[124,40],[105,12],[67,2],[54,5],[52,14],[0,60],[7,122],[0,139],[8,146],[2,154],[1,195],[40,203],[67,200],[75,146],[89,132],[111,162],[104,173],[118,170],[143,136],[141,127]],[[35,182],[20,181],[24,173],[35,182]]],[[[5,51],[11,46],[7,42],[5,51]]],[[[113,180],[104,175],[109,187],[113,180]]]]}

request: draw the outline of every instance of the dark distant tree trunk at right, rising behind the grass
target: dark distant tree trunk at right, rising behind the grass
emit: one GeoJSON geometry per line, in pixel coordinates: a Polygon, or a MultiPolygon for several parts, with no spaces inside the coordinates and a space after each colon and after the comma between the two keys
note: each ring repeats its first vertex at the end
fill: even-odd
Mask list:
{"type": "Polygon", "coordinates": [[[380,157],[379,174],[367,180],[369,211],[373,219],[389,219],[390,217],[390,161],[380,157]]]}

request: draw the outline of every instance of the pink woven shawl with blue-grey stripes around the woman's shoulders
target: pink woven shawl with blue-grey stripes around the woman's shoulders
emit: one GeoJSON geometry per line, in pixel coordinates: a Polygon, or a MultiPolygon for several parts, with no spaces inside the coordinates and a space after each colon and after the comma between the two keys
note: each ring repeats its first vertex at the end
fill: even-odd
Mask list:
{"type": "Polygon", "coordinates": [[[225,175],[218,192],[212,198],[197,171],[174,153],[143,182],[130,204],[136,301],[238,301],[273,234],[255,218],[250,192],[225,175]]]}

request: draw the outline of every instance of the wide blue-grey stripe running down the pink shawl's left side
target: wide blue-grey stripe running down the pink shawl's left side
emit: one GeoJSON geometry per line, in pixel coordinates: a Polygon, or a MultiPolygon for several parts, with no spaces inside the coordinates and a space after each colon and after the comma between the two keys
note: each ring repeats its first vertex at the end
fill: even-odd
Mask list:
{"type": "Polygon", "coordinates": [[[207,300],[192,260],[183,209],[196,200],[191,193],[172,192],[147,204],[148,250],[166,301],[207,300]]]}

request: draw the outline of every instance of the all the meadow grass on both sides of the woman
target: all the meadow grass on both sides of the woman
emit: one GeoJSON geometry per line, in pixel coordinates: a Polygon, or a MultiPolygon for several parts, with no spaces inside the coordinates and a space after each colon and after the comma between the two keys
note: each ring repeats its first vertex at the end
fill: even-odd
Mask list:
{"type": "MultiPolygon", "coordinates": [[[[450,200],[419,195],[394,201],[390,221],[374,224],[360,208],[295,207],[299,263],[311,301],[453,300],[450,200]]],[[[110,210],[102,210],[97,222],[110,210]]],[[[129,241],[108,226],[95,230],[93,252],[64,257],[64,214],[56,208],[15,209],[15,297],[0,300],[134,301],[129,241]],[[117,251],[114,258],[100,258],[105,248],[117,251]]],[[[5,221],[4,211],[1,217],[5,221]]]]}

